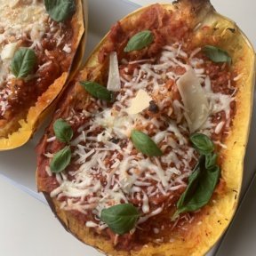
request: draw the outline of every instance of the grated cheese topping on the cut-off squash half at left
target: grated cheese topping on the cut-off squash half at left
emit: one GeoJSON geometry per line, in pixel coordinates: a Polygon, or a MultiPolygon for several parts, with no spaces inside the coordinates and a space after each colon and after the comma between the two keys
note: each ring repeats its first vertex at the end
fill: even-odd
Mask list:
{"type": "MultiPolygon", "coordinates": [[[[0,122],[1,119],[8,122],[12,114],[6,111],[18,108],[17,105],[20,108],[23,94],[31,91],[29,88],[20,88],[21,85],[15,82],[16,78],[10,68],[14,53],[20,47],[28,47],[36,52],[37,58],[40,58],[40,61],[37,60],[39,65],[36,74],[27,77],[27,82],[35,79],[35,87],[34,84],[39,84],[42,79],[42,69],[52,65],[52,49],[58,47],[60,52],[66,54],[71,52],[71,48],[69,44],[64,44],[65,38],[68,38],[63,29],[64,25],[49,17],[44,1],[1,0],[0,6],[0,122]],[[49,58],[45,58],[44,54],[49,58]]],[[[31,84],[27,85],[29,87],[31,84]]],[[[43,87],[44,85],[41,85],[41,88],[36,89],[35,94],[40,94],[43,87]]]]}

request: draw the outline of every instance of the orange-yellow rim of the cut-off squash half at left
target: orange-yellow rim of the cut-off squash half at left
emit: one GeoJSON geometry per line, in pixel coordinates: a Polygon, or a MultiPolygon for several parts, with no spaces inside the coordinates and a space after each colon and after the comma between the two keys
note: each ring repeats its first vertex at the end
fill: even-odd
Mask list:
{"type": "Polygon", "coordinates": [[[71,20],[74,29],[74,48],[76,54],[72,60],[68,72],[63,72],[36,101],[36,105],[28,109],[26,118],[18,121],[20,128],[12,132],[7,138],[0,138],[0,151],[10,150],[23,146],[38,130],[47,116],[52,113],[56,103],[64,91],[68,81],[76,74],[80,67],[85,50],[85,40],[87,37],[87,0],[76,0],[76,13],[71,20]],[[84,2],[84,3],[82,3],[84,2]]]}

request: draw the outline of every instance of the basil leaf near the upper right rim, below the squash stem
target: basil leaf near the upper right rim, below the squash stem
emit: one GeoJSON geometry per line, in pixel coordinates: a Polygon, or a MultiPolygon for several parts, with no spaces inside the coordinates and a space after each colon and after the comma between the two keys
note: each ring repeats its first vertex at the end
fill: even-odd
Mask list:
{"type": "Polygon", "coordinates": [[[228,55],[228,52],[212,45],[205,45],[203,52],[210,60],[216,63],[228,62],[230,64],[232,61],[231,57],[228,55]]]}

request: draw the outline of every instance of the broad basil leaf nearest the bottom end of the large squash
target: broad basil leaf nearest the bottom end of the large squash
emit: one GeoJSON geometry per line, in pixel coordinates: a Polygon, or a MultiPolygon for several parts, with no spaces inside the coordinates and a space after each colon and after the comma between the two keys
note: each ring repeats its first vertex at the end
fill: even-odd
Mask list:
{"type": "Polygon", "coordinates": [[[114,233],[124,235],[135,227],[140,212],[132,204],[117,204],[102,210],[100,220],[114,233]]]}

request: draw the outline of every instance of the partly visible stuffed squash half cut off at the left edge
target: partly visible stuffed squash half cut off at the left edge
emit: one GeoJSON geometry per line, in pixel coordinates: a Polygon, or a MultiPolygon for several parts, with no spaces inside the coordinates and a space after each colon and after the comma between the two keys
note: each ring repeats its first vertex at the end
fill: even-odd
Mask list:
{"type": "Polygon", "coordinates": [[[6,150],[29,140],[76,72],[86,14],[81,0],[0,4],[0,150],[6,150]]]}

